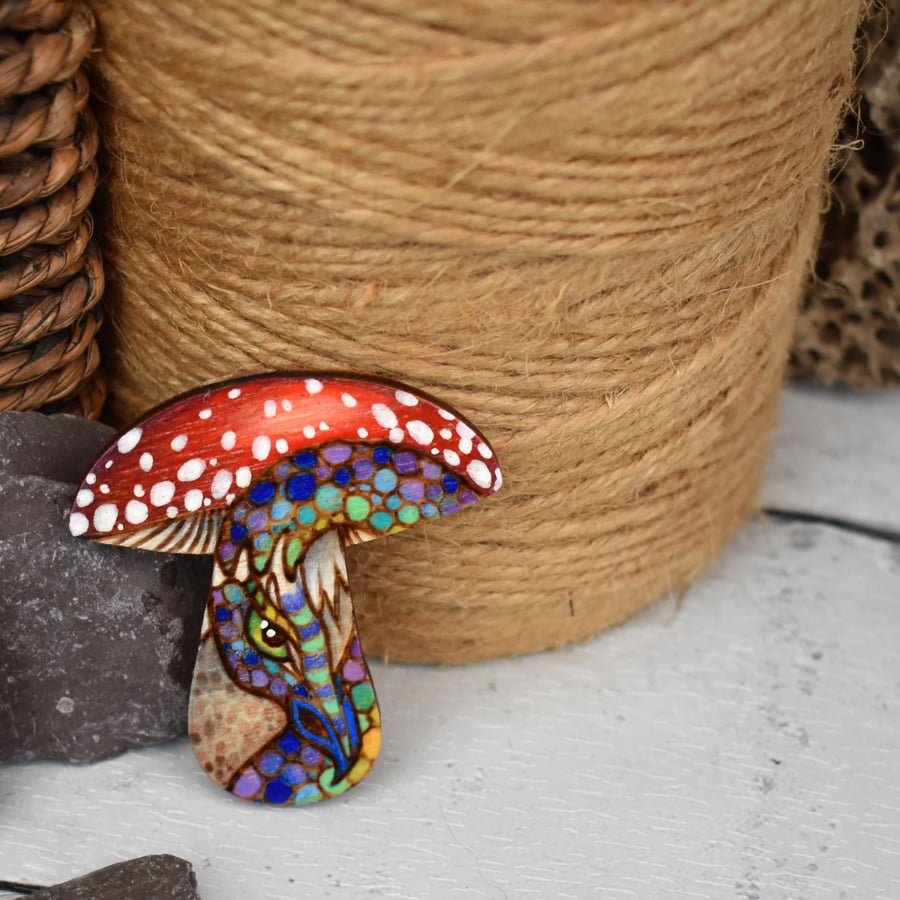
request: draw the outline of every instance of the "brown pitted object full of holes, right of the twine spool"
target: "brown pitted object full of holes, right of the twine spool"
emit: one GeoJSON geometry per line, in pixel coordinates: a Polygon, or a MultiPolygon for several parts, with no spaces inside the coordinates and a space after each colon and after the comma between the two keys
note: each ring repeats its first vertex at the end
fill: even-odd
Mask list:
{"type": "Polygon", "coordinates": [[[900,384],[900,2],[864,26],[858,111],[841,142],[815,277],[797,320],[794,374],[825,384],[900,384]],[[890,15],[889,15],[890,14],[890,15]]]}

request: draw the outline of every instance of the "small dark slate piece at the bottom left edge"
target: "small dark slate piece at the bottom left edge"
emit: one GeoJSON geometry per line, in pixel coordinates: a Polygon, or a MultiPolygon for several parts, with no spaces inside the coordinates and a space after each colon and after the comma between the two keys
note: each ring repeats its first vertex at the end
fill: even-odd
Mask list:
{"type": "Polygon", "coordinates": [[[31,894],[34,900],[200,900],[191,864],[178,856],[142,856],[31,894]]]}

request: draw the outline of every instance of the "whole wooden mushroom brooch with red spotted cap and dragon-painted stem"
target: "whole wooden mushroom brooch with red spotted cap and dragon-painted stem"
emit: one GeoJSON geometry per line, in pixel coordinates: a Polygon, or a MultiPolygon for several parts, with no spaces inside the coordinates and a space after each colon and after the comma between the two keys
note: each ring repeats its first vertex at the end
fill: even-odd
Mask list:
{"type": "Polygon", "coordinates": [[[381,741],[344,549],[496,491],[487,441],[408,388],[273,373],[184,394],[100,455],[72,534],[215,560],[191,689],[195,753],[245,800],[313,803],[381,741]]]}

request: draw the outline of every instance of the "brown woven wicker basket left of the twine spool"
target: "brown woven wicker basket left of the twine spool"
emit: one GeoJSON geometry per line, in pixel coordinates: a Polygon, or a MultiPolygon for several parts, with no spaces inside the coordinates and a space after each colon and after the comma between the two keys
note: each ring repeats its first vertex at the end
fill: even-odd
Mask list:
{"type": "Polygon", "coordinates": [[[96,417],[103,293],[87,212],[97,126],[81,64],[94,41],[82,2],[0,10],[0,410],[96,417]]]}

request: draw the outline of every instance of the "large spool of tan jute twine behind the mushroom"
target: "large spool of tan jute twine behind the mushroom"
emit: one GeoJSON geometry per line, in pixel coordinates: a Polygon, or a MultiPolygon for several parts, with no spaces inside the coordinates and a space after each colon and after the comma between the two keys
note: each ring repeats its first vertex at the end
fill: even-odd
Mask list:
{"type": "Polygon", "coordinates": [[[354,550],[369,650],[585,638],[754,509],[847,0],[99,0],[113,410],[352,370],[506,484],[354,550]]]}

